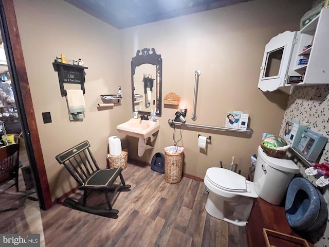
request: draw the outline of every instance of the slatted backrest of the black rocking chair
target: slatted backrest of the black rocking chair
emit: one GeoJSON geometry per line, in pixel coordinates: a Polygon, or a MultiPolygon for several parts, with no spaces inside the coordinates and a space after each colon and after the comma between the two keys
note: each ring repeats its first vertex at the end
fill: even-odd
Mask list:
{"type": "Polygon", "coordinates": [[[82,185],[91,173],[99,170],[87,140],[56,156],[56,160],[63,164],[72,177],[82,185]],[[86,152],[88,150],[88,152],[86,152]],[[89,154],[89,155],[88,155],[89,154]]]}

